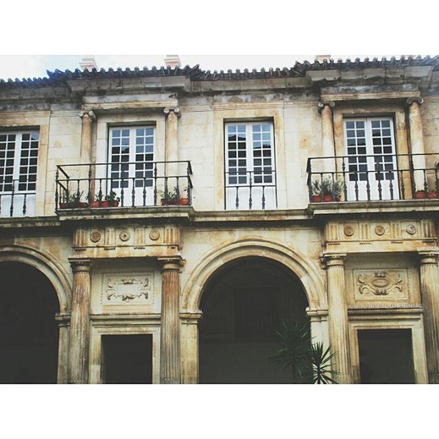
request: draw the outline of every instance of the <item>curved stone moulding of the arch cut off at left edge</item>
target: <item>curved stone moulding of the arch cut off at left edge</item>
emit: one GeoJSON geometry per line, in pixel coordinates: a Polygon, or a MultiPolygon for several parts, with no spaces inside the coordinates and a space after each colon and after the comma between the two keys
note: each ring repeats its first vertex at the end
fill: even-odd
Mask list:
{"type": "Polygon", "coordinates": [[[70,311],[71,286],[69,276],[53,255],[30,246],[0,245],[0,263],[6,261],[25,263],[42,272],[54,286],[60,312],[70,311]]]}

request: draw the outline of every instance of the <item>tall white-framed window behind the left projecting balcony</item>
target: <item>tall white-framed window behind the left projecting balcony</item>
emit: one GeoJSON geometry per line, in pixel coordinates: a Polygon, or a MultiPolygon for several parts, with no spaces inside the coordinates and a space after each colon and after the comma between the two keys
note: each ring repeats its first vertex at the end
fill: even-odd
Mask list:
{"type": "Polygon", "coordinates": [[[110,128],[111,188],[119,196],[123,190],[126,199],[131,199],[134,188],[135,205],[143,202],[143,188],[147,204],[152,204],[154,139],[154,126],[110,128]]]}

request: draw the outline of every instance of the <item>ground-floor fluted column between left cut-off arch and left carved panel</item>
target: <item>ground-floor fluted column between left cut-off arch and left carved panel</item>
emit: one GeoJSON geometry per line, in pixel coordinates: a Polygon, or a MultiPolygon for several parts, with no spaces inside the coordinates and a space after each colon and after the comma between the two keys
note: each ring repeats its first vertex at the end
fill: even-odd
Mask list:
{"type": "Polygon", "coordinates": [[[89,259],[70,259],[73,271],[71,300],[69,383],[88,383],[91,276],[89,259]]]}

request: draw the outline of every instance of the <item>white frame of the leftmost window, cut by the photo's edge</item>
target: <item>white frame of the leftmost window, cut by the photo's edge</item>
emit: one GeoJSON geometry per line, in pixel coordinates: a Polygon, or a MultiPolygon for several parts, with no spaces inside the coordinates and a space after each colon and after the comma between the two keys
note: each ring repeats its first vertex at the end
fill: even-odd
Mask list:
{"type": "MultiPolygon", "coordinates": [[[[38,129],[33,130],[5,130],[0,131],[0,139],[3,136],[15,135],[14,140],[14,156],[12,158],[6,157],[6,150],[0,150],[0,160],[4,160],[4,165],[0,167],[0,178],[5,178],[5,169],[6,169],[6,161],[13,161],[13,170],[12,170],[12,184],[3,182],[0,185],[0,216],[1,217],[10,217],[10,211],[12,206],[12,216],[13,217],[21,217],[21,216],[33,216],[35,214],[35,197],[36,197],[36,185],[37,185],[37,172],[38,172],[38,152],[40,147],[40,132],[38,129]],[[29,154],[27,156],[22,157],[23,151],[23,143],[26,140],[23,140],[23,135],[29,134],[29,154]],[[35,135],[37,139],[32,139],[32,135],[35,135]],[[36,147],[31,147],[31,143],[36,142],[36,147]],[[34,150],[36,154],[30,155],[30,152],[34,150]],[[4,157],[3,157],[4,153],[4,157]],[[21,165],[21,161],[27,160],[26,165],[21,165]],[[30,161],[33,160],[34,163],[30,164],[30,161]],[[21,174],[21,168],[25,166],[26,172],[25,174],[21,174]],[[35,167],[35,172],[29,174],[29,168],[35,167]],[[34,181],[29,181],[29,176],[34,175],[34,181]],[[24,178],[23,178],[24,177],[24,178]],[[23,181],[20,181],[22,180],[23,181]],[[20,189],[20,186],[25,184],[26,189],[20,189]],[[10,185],[10,190],[5,190],[5,185],[10,185]],[[27,189],[29,185],[33,185],[34,189],[27,189]],[[25,212],[23,210],[25,209],[25,212]]],[[[0,141],[3,143],[3,141],[0,141]]],[[[10,174],[9,174],[10,175],[10,174]]]]}

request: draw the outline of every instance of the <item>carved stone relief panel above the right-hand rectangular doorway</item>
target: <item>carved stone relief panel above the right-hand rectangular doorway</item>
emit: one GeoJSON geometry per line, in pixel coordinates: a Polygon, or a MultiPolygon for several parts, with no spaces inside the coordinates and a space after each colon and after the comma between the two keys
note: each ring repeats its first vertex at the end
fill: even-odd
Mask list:
{"type": "Polygon", "coordinates": [[[353,270],[354,299],[410,300],[407,270],[353,270]]]}

